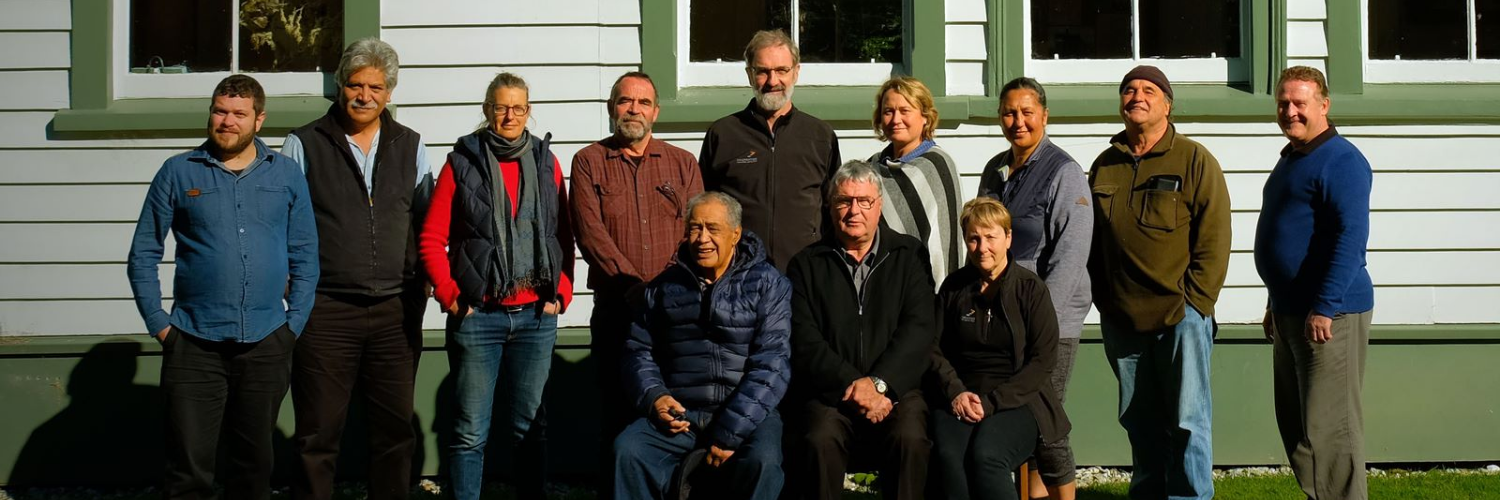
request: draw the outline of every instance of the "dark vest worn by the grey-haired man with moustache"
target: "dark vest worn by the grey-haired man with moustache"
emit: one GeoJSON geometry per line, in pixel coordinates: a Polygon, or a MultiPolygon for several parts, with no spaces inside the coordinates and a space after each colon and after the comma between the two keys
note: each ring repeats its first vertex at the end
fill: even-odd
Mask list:
{"type": "Polygon", "coordinates": [[[414,206],[417,147],[422,137],[381,114],[375,189],[339,126],[338,104],[321,119],[292,131],[306,150],[308,191],[318,221],[318,291],[382,297],[423,282],[417,233],[426,207],[414,206]]]}

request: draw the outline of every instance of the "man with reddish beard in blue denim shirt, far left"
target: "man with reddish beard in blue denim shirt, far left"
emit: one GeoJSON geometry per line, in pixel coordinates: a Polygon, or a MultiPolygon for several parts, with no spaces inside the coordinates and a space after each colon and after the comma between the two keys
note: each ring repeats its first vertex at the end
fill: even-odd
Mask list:
{"type": "Polygon", "coordinates": [[[272,435],[312,309],[318,234],[297,164],[255,138],[264,122],[260,83],[220,81],[208,140],[156,173],[130,243],[135,305],[162,344],[164,498],[216,497],[220,434],[232,464],[225,495],[270,497],[272,435]],[[177,240],[171,312],[158,276],[168,231],[177,240]]]}

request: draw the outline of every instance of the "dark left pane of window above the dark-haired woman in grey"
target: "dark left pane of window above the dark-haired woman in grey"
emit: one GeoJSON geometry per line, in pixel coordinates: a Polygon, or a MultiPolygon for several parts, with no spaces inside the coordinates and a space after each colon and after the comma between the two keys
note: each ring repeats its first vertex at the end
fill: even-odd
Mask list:
{"type": "Polygon", "coordinates": [[[1032,2],[1034,59],[1130,59],[1130,0],[1032,2]]]}

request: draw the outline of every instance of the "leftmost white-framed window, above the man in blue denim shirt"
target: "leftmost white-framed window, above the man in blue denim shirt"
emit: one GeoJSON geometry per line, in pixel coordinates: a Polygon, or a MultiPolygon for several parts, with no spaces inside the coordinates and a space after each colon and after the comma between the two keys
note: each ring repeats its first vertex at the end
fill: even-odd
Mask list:
{"type": "Polygon", "coordinates": [[[324,95],[344,47],[342,0],[114,0],[117,98],[196,98],[234,72],[267,95],[324,95]]]}

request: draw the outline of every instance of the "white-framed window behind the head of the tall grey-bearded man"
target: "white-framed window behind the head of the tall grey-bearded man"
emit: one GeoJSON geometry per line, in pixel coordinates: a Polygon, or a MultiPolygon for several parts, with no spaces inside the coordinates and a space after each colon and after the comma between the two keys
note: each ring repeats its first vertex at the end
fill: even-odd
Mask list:
{"type": "Polygon", "coordinates": [[[782,29],[802,56],[801,86],[878,86],[903,65],[902,0],[681,0],[681,87],[746,86],[744,47],[782,29]]]}

